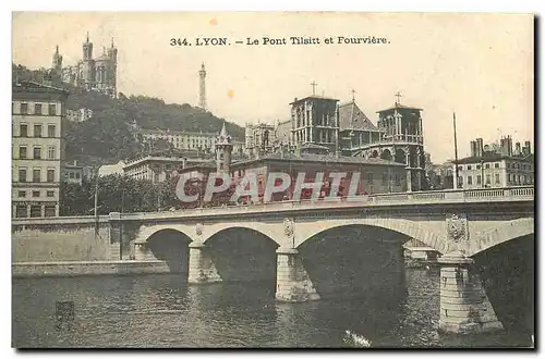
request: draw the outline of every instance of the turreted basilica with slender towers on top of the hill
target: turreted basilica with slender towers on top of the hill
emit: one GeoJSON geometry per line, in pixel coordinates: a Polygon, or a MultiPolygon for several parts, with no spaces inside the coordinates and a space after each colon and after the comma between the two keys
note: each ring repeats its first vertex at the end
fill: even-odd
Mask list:
{"type": "Polygon", "coordinates": [[[118,49],[113,45],[113,39],[110,47],[102,48],[101,55],[93,58],[93,42],[87,33],[82,50],[82,60],[74,65],[63,67],[62,55],[57,47],[52,60],[53,73],[64,83],[117,97],[118,49]]]}

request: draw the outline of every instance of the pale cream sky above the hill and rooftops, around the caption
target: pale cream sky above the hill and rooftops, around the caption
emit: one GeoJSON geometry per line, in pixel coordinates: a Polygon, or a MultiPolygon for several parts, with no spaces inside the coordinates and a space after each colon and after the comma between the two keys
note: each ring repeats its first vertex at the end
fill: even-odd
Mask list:
{"type": "Polygon", "coordinates": [[[352,98],[376,123],[376,111],[401,103],[424,109],[424,146],[439,163],[453,158],[456,111],[459,157],[469,141],[512,135],[531,140],[533,17],[522,14],[356,13],[16,13],[13,62],[50,67],[56,45],[63,65],[82,58],[89,32],[94,57],[111,38],[118,52],[118,91],[167,103],[197,104],[201,63],[207,102],[228,121],[276,122],[293,98],[352,98]],[[322,45],[245,46],[235,40],[318,37],[322,45]],[[387,45],[325,45],[325,37],[388,38],[387,45]],[[192,47],[171,47],[171,38],[192,47]],[[196,47],[196,37],[227,37],[231,46],[196,47]]]}

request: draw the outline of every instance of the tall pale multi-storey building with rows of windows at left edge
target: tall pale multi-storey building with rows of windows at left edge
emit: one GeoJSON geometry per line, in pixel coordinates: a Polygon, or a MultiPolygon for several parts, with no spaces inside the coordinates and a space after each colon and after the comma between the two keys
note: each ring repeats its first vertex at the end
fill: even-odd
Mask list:
{"type": "Polygon", "coordinates": [[[62,116],[69,91],[34,82],[12,87],[12,215],[58,216],[62,116]]]}

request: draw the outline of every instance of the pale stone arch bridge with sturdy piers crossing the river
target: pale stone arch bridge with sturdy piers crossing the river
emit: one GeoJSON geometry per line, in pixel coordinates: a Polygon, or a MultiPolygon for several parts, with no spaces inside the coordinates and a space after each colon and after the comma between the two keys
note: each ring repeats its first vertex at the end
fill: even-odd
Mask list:
{"type": "MultiPolygon", "coordinates": [[[[31,222],[36,225],[39,221],[55,220],[19,220],[14,225],[31,222]]],[[[420,191],[336,201],[110,213],[99,221],[107,225],[112,247],[131,244],[132,259],[141,261],[157,260],[148,244],[154,235],[167,230],[183,234],[190,243],[190,283],[221,281],[207,255],[210,238],[231,228],[261,233],[277,245],[276,297],[283,301],[319,298],[300,258],[301,245],[320,233],[347,225],[389,230],[399,233],[400,238],[414,238],[443,255],[440,327],[450,332],[477,332],[495,330],[501,324],[486,295],[483,296],[479,277],[470,273],[471,257],[534,233],[534,188],[420,191]]],[[[114,256],[119,256],[119,251],[114,256]]]]}

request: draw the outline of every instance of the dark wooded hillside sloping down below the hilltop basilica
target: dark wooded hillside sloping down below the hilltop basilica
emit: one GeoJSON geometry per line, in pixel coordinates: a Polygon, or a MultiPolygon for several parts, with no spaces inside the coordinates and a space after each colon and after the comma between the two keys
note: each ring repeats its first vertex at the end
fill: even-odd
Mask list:
{"type": "MultiPolygon", "coordinates": [[[[21,65],[12,65],[13,78],[43,82],[45,70],[31,71],[21,65]]],[[[112,163],[142,154],[144,148],[131,133],[131,124],[136,122],[142,128],[219,133],[223,119],[210,112],[194,108],[189,103],[165,103],[164,100],[129,96],[120,92],[117,99],[95,91],[87,91],[61,83],[53,78],[53,85],[71,91],[66,109],[93,110],[93,117],[86,122],[64,121],[66,160],[78,160],[82,164],[112,163]]],[[[227,123],[233,138],[243,139],[244,129],[227,123]]]]}

